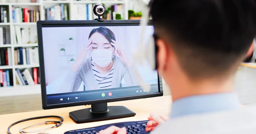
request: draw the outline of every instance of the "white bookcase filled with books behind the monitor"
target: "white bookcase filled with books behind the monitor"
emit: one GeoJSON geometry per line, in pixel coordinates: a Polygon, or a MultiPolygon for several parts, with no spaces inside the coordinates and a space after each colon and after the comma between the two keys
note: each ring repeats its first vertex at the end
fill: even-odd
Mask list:
{"type": "MultiPolygon", "coordinates": [[[[7,2],[9,0],[6,0],[7,2]]],[[[13,0],[12,0],[13,1],[13,0]]],[[[39,20],[46,20],[45,12],[46,8],[51,8],[57,5],[64,4],[67,8],[67,14],[68,14],[68,20],[76,20],[76,18],[73,16],[74,9],[78,5],[86,5],[86,4],[98,4],[103,3],[105,4],[106,8],[112,6],[112,5],[120,5],[122,4],[122,19],[128,20],[128,0],[37,0],[36,3],[30,3],[30,0],[18,0],[22,1],[22,3],[0,3],[0,6],[4,6],[6,10],[6,16],[7,16],[7,22],[1,22],[0,20],[0,27],[5,28],[6,31],[6,44],[0,44],[0,49],[11,49],[11,61],[12,63],[10,65],[2,65],[0,66],[0,70],[9,70],[10,73],[12,73],[12,79],[10,81],[13,81],[13,85],[10,87],[0,87],[0,97],[1,96],[15,96],[15,95],[29,95],[29,94],[39,94],[41,93],[41,87],[40,84],[35,85],[20,85],[17,84],[16,79],[16,70],[24,70],[29,69],[33,70],[35,67],[39,67],[39,64],[15,64],[15,50],[17,48],[23,47],[23,48],[34,48],[38,47],[37,41],[37,29],[36,29],[36,22],[22,22],[22,21],[13,21],[13,7],[14,8],[28,8],[29,10],[35,10],[39,12],[39,20]],[[17,36],[15,31],[16,27],[25,29],[26,32],[26,41],[23,41],[22,43],[17,42],[15,43],[15,38],[17,36]],[[30,28],[30,36],[28,34],[28,29],[30,28]],[[28,43],[28,41],[31,41],[31,43],[28,43]]],[[[93,19],[95,16],[93,15],[93,19]]],[[[29,19],[29,18],[28,18],[29,19]]],[[[90,19],[91,20],[91,19],[90,19]]],[[[23,39],[23,36],[22,36],[23,39]]],[[[25,39],[24,39],[25,40],[25,39]]],[[[30,71],[31,75],[32,72],[30,71]]]]}

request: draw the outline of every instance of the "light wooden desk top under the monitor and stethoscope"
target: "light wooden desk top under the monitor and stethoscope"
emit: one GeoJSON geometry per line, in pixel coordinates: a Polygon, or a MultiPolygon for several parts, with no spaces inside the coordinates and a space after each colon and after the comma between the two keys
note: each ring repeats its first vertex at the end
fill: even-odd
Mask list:
{"type": "MultiPolygon", "coordinates": [[[[108,103],[109,106],[126,106],[132,111],[136,112],[136,116],[116,119],[116,120],[106,120],[101,122],[83,123],[83,124],[76,124],[69,117],[69,112],[78,110],[78,109],[89,108],[89,106],[74,106],[74,107],[67,107],[67,108],[60,108],[60,109],[40,110],[40,111],[34,111],[34,112],[4,114],[4,115],[0,115],[0,134],[7,134],[6,130],[8,126],[18,120],[23,120],[30,117],[45,116],[45,115],[58,115],[64,118],[64,123],[62,126],[58,128],[53,128],[47,131],[50,134],[64,134],[64,132],[70,131],[73,129],[90,128],[93,126],[100,126],[100,125],[110,124],[110,123],[147,120],[148,115],[150,113],[158,113],[161,115],[168,116],[171,110],[171,103],[172,103],[171,96],[162,96],[162,97],[156,97],[156,98],[126,100],[126,101],[108,103]]],[[[24,128],[24,127],[27,127],[36,123],[41,123],[47,120],[52,120],[52,119],[32,120],[32,121],[20,123],[13,126],[11,129],[11,132],[12,134],[20,134],[18,132],[19,128],[24,128]]],[[[41,127],[46,128],[46,125],[43,125],[41,127]]],[[[38,127],[36,127],[35,129],[38,129],[38,127]]]]}

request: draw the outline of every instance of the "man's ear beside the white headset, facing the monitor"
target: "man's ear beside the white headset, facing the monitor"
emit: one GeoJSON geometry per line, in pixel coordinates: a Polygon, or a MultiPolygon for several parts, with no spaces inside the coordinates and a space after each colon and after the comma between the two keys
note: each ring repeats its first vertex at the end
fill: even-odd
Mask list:
{"type": "Polygon", "coordinates": [[[156,45],[158,47],[157,52],[157,70],[162,73],[163,70],[166,68],[166,58],[168,54],[168,49],[166,43],[162,39],[156,40],[156,45]]]}

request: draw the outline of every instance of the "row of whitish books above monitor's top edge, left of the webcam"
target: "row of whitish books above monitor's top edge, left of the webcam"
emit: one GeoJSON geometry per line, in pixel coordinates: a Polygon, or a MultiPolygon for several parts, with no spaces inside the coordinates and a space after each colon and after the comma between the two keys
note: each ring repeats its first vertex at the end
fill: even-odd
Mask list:
{"type": "Polygon", "coordinates": [[[61,4],[45,9],[45,20],[69,20],[67,5],[61,4]]]}

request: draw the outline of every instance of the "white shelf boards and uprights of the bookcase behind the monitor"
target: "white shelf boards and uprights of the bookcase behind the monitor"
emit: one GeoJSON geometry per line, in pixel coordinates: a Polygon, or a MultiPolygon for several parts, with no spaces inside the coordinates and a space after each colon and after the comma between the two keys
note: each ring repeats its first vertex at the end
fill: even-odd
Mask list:
{"type": "MultiPolygon", "coordinates": [[[[8,66],[0,66],[0,69],[9,69],[12,70],[12,75],[13,75],[13,84],[14,86],[12,87],[0,87],[0,97],[1,96],[15,96],[15,95],[29,95],[29,94],[39,94],[41,93],[41,87],[40,85],[17,85],[16,84],[16,76],[15,76],[15,70],[17,68],[32,68],[32,67],[39,67],[39,64],[35,65],[15,65],[14,63],[14,50],[15,47],[35,47],[38,46],[38,44],[14,44],[13,42],[13,37],[12,35],[12,30],[14,30],[15,25],[19,25],[20,28],[31,28],[31,33],[36,34],[36,22],[20,22],[20,23],[15,23],[12,22],[12,6],[14,7],[23,7],[23,8],[29,8],[33,10],[38,10],[40,11],[40,20],[44,20],[44,9],[49,8],[55,5],[59,4],[67,4],[69,6],[68,8],[68,14],[69,14],[69,20],[73,20],[73,17],[70,16],[72,13],[72,8],[73,5],[75,4],[99,4],[99,3],[104,3],[107,7],[114,5],[114,4],[123,4],[123,11],[124,13],[124,19],[128,20],[128,0],[81,0],[81,1],[76,1],[76,0],[59,0],[59,1],[53,1],[53,0],[38,0],[37,3],[0,3],[0,6],[6,6],[8,11],[7,14],[9,15],[9,19],[7,23],[0,23],[0,27],[6,28],[6,40],[7,44],[5,45],[0,45],[1,47],[11,47],[12,49],[12,65],[8,66]]],[[[106,8],[107,8],[106,7],[106,8]]],[[[33,41],[35,41],[36,35],[31,34],[31,38],[33,38],[33,41]]]]}

